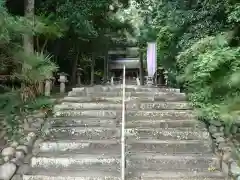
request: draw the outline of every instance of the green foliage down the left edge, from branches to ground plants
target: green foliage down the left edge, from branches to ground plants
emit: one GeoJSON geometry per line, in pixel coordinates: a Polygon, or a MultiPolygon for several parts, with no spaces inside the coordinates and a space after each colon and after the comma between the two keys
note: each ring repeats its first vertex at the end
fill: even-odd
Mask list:
{"type": "Polygon", "coordinates": [[[4,92],[0,94],[0,109],[5,117],[3,128],[11,138],[16,138],[28,125],[26,115],[39,108],[51,107],[50,101],[38,99],[38,88],[57,70],[57,66],[51,62],[51,56],[43,52],[26,53],[22,47],[22,36],[40,35],[40,31],[44,30],[47,31],[45,35],[52,36],[53,31],[42,28],[47,27],[43,22],[32,22],[25,17],[9,14],[3,5],[0,6],[0,16],[1,73],[10,77],[9,81],[14,80],[12,84],[16,80],[21,83],[21,88],[1,85],[4,92]]]}

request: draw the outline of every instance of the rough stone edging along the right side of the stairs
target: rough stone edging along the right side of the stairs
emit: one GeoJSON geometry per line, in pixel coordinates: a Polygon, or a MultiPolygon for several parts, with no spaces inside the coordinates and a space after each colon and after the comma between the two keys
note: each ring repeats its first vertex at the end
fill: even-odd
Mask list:
{"type": "Polygon", "coordinates": [[[219,120],[211,120],[208,123],[208,130],[213,140],[213,149],[219,159],[218,167],[234,180],[240,180],[240,166],[233,155],[233,143],[225,137],[224,123],[219,120]]]}

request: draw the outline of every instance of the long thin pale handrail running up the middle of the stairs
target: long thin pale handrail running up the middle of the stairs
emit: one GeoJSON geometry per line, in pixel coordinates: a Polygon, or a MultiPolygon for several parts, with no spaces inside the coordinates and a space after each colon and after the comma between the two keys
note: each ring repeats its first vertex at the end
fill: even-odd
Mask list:
{"type": "Polygon", "coordinates": [[[121,179],[125,180],[125,65],[123,66],[123,85],[122,85],[122,133],[121,133],[121,179]]]}

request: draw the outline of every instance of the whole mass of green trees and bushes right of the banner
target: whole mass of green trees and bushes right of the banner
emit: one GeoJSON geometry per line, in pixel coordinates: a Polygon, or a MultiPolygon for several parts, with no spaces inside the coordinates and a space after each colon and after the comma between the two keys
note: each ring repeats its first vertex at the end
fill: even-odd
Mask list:
{"type": "Polygon", "coordinates": [[[184,89],[201,119],[225,120],[230,129],[240,112],[239,2],[145,1],[148,8],[140,7],[151,21],[141,31],[155,33],[169,84],[184,89]]]}

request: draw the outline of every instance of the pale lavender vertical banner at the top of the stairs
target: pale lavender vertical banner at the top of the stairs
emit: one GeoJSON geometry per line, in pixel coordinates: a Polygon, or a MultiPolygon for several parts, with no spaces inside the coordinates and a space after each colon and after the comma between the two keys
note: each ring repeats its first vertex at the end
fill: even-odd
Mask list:
{"type": "Polygon", "coordinates": [[[149,42],[147,48],[147,69],[148,76],[153,77],[157,70],[157,49],[156,42],[149,42]]]}

